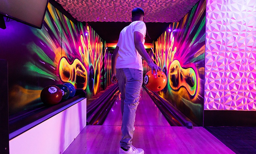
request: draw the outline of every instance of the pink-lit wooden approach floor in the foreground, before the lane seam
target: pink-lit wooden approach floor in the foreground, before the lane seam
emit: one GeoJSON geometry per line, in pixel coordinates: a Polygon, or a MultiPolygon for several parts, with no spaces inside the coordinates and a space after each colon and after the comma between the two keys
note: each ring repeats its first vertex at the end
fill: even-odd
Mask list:
{"type": "MultiPolygon", "coordinates": [[[[133,145],[146,154],[233,154],[205,128],[136,126],[133,145]]],[[[120,126],[86,126],[64,154],[117,154],[120,126]]]]}

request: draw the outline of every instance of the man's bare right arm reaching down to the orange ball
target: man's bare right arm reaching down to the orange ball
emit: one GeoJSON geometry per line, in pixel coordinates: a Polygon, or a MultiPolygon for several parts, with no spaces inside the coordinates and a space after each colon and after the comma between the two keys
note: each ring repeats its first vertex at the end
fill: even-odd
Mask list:
{"type": "Polygon", "coordinates": [[[138,31],[134,31],[134,45],[135,45],[135,48],[137,49],[139,54],[145,59],[148,66],[151,68],[152,74],[153,74],[153,70],[155,70],[156,74],[157,74],[157,71],[159,71],[159,70],[161,71],[161,68],[159,66],[157,66],[156,64],[154,64],[154,62],[152,61],[150,56],[147,54],[147,51],[144,48],[144,45],[143,45],[142,41],[143,41],[143,35],[138,31]]]}

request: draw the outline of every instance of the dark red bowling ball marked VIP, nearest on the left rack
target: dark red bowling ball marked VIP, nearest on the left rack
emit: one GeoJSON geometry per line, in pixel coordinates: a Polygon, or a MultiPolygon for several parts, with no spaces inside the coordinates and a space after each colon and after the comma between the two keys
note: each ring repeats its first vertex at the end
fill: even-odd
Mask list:
{"type": "Polygon", "coordinates": [[[61,101],[62,92],[57,86],[47,86],[41,91],[40,98],[46,105],[55,105],[61,101]]]}

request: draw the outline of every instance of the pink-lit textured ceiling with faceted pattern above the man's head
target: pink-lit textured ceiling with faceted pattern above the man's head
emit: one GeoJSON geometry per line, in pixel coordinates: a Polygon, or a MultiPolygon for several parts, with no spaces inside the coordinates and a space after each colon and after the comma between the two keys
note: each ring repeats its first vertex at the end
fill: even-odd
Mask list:
{"type": "Polygon", "coordinates": [[[131,11],[141,7],[146,22],[177,22],[199,0],[56,0],[78,21],[130,22],[131,11]]]}

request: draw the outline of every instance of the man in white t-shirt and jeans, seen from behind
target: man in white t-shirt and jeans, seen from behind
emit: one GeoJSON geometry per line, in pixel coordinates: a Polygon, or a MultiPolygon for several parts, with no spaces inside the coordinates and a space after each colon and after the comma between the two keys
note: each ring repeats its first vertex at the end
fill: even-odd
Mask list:
{"type": "Polygon", "coordinates": [[[112,83],[117,83],[121,92],[122,139],[119,154],[144,154],[143,149],[132,146],[135,112],[139,104],[139,93],[143,82],[142,57],[156,72],[161,68],[154,64],[144,48],[146,25],[144,11],[132,10],[132,23],[119,35],[117,47],[112,55],[112,83]]]}

